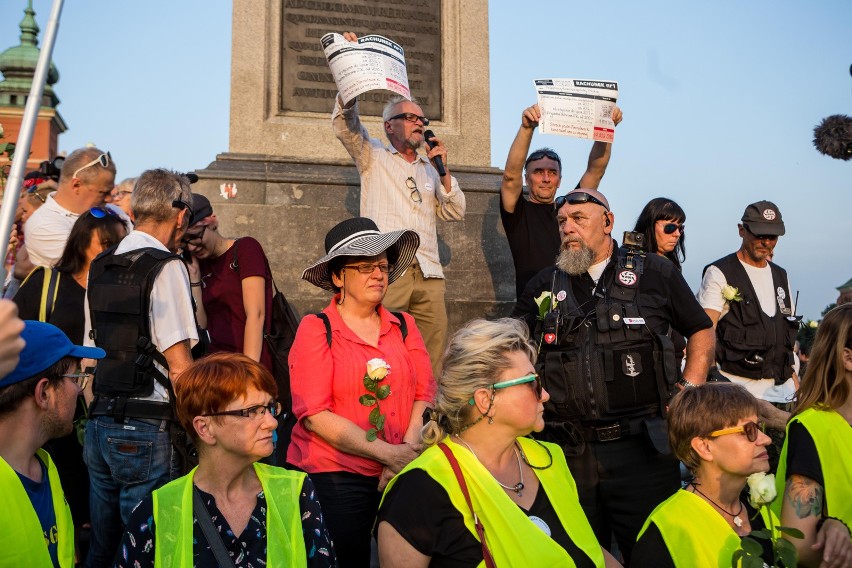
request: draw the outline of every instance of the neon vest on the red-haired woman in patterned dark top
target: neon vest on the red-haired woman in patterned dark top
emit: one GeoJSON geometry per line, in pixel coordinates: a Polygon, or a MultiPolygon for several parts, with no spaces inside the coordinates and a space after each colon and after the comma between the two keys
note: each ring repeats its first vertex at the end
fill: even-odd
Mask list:
{"type": "MultiPolygon", "coordinates": [[[[153,493],[156,568],[193,565],[192,478],[197,469],[153,493]]],[[[306,474],[261,463],[254,464],[254,471],[266,496],[266,565],[305,566],[299,492],[306,474]]]]}

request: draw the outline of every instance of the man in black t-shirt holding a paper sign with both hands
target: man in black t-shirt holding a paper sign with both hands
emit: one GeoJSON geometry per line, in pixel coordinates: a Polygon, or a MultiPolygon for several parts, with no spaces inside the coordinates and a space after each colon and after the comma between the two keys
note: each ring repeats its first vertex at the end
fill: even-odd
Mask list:
{"type": "MultiPolygon", "coordinates": [[[[621,118],[621,109],[615,107],[613,122],[617,125],[621,118]]],[[[559,228],[552,204],[562,183],[562,160],[550,148],[541,148],[527,156],[540,119],[541,109],[537,104],[521,114],[521,127],[509,148],[500,186],[500,219],[515,264],[517,298],[521,297],[530,278],[551,266],[559,253],[559,228]],[[526,175],[522,177],[524,170],[526,175]],[[529,191],[528,199],[522,195],[524,183],[529,191]]],[[[577,183],[578,188],[598,188],[611,151],[612,144],[606,142],[592,145],[586,171],[577,183]]]]}

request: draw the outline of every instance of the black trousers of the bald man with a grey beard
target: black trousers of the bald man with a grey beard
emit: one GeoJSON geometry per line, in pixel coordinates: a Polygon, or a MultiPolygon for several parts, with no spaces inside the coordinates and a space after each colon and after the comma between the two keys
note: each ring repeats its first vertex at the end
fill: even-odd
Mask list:
{"type": "Polygon", "coordinates": [[[566,458],[598,542],[610,550],[615,534],[627,566],[645,519],[680,488],[677,459],[641,435],[590,442],[582,455],[566,458]]]}

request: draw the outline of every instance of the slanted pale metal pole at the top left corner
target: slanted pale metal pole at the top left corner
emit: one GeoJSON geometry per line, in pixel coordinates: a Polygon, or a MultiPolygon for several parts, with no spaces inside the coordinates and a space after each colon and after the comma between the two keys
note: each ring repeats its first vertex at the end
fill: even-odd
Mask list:
{"type": "Polygon", "coordinates": [[[30,87],[30,95],[24,108],[24,117],[21,120],[21,130],[15,141],[15,154],[12,157],[12,169],[6,182],[3,193],[3,205],[0,207],[0,250],[3,251],[4,262],[0,263],[0,286],[6,281],[6,245],[12,234],[12,225],[15,221],[15,210],[18,208],[18,197],[21,194],[21,184],[24,179],[24,170],[30,157],[30,148],[33,143],[38,111],[41,107],[41,97],[44,94],[44,84],[47,80],[47,71],[53,55],[53,46],[56,43],[56,33],[59,30],[59,16],[62,13],[63,0],[53,0],[53,8],[50,10],[50,18],[47,21],[47,29],[44,34],[44,42],[38,56],[33,84],[30,87]]]}

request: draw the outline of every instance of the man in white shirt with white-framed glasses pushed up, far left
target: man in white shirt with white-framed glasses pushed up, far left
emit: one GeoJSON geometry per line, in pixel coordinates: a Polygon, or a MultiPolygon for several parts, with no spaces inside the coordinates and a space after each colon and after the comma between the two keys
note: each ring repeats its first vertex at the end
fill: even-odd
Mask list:
{"type": "MultiPolygon", "coordinates": [[[[109,152],[80,148],[65,159],[59,185],[27,222],[26,251],[32,266],[53,266],[62,256],[77,218],[110,201],[115,184],[115,163],[109,152]]],[[[16,266],[15,277],[24,278],[29,265],[16,266]]]]}

